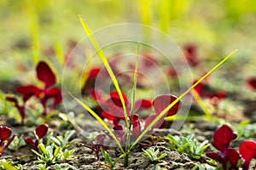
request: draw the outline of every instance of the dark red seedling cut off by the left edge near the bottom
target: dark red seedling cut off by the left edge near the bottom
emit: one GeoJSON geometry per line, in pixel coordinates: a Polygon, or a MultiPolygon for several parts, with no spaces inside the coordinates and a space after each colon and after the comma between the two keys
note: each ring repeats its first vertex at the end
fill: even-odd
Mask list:
{"type": "Polygon", "coordinates": [[[12,130],[9,127],[0,126],[0,157],[3,156],[4,150],[6,150],[9,144],[15,139],[15,135],[9,139],[11,134],[12,130]]]}

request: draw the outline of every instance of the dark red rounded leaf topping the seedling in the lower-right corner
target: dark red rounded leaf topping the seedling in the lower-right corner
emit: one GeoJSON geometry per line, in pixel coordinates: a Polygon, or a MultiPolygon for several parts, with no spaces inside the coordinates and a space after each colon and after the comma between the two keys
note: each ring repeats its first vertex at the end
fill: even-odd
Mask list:
{"type": "Polygon", "coordinates": [[[230,142],[236,139],[236,137],[236,133],[229,126],[223,125],[213,134],[213,144],[219,151],[224,152],[229,147],[230,142]]]}

